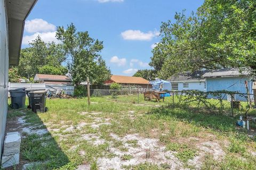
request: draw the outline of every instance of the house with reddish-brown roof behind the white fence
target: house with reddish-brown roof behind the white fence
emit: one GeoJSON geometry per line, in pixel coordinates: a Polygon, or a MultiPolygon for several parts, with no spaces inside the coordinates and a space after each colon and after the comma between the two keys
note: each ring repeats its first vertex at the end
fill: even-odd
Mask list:
{"type": "Polygon", "coordinates": [[[34,81],[47,84],[72,84],[66,75],[36,74],[34,81]]]}

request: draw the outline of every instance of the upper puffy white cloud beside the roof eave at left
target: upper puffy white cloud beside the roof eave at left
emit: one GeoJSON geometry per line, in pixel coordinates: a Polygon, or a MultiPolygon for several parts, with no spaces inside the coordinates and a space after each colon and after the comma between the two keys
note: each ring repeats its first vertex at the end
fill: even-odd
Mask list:
{"type": "Polygon", "coordinates": [[[28,20],[25,22],[25,31],[29,33],[34,32],[53,32],[56,26],[44,21],[43,19],[28,20]]]}

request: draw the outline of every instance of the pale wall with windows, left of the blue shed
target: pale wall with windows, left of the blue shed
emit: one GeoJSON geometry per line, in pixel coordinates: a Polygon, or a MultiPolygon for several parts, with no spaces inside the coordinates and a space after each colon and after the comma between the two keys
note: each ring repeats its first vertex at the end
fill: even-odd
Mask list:
{"type": "MultiPolygon", "coordinates": [[[[172,82],[172,83],[178,83],[178,90],[200,90],[200,91],[206,91],[205,81],[185,81],[185,82],[172,82]],[[184,87],[184,85],[188,84],[188,88],[184,87]]],[[[173,85],[172,85],[173,87],[173,85]]]]}

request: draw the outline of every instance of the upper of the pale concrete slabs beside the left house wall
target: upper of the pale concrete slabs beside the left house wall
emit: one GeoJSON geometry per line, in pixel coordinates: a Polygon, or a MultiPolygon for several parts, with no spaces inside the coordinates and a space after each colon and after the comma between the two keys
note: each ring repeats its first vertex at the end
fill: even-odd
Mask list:
{"type": "Polygon", "coordinates": [[[21,137],[18,132],[7,133],[4,141],[3,156],[13,155],[20,152],[21,137]]]}

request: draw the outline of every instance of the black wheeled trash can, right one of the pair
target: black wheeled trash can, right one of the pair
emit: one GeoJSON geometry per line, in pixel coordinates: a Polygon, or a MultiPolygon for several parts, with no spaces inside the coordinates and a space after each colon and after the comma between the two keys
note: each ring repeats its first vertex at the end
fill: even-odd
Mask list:
{"type": "Polygon", "coordinates": [[[47,90],[31,91],[28,93],[30,106],[34,113],[46,112],[46,93],[47,90]]]}

